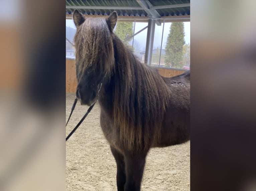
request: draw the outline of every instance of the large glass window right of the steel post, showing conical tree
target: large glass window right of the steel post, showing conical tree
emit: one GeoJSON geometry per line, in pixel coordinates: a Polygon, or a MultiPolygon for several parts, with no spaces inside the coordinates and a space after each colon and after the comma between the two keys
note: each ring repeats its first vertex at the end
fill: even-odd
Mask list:
{"type": "Polygon", "coordinates": [[[155,25],[151,65],[189,70],[190,22],[169,21],[161,20],[161,26],[155,25]]]}

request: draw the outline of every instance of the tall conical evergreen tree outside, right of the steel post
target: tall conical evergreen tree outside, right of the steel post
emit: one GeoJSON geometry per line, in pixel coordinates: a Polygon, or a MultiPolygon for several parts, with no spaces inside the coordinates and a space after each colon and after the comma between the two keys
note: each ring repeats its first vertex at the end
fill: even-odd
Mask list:
{"type": "Polygon", "coordinates": [[[179,68],[184,65],[182,62],[184,40],[184,23],[173,22],[170,26],[170,33],[167,38],[165,51],[165,67],[179,68]]]}

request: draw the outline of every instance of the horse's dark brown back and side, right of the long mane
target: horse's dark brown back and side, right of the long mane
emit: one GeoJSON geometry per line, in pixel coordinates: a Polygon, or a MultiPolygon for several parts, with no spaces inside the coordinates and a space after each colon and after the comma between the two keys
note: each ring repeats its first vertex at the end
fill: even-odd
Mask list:
{"type": "Polygon", "coordinates": [[[157,147],[184,143],[190,139],[190,71],[164,78],[170,89],[157,147]]]}

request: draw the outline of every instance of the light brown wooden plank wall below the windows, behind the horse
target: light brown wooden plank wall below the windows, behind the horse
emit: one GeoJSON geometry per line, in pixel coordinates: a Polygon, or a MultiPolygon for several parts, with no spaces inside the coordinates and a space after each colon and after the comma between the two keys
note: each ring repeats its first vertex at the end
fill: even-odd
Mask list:
{"type": "MultiPolygon", "coordinates": [[[[173,77],[184,73],[183,70],[173,70],[158,68],[159,74],[163,77],[173,77]]],[[[77,79],[75,70],[75,60],[66,59],[66,92],[76,92],[77,89],[77,79]]]]}

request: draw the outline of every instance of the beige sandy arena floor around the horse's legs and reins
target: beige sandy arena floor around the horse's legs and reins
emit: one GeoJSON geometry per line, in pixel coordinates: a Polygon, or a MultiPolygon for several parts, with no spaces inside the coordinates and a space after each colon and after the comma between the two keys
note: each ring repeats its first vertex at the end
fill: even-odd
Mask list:
{"type": "MultiPolygon", "coordinates": [[[[75,94],[66,94],[66,119],[75,94]]],[[[87,111],[77,104],[66,135],[87,111]]],[[[95,105],[66,143],[66,191],[116,191],[116,163],[100,127],[100,107],[95,105]]],[[[142,191],[190,190],[190,142],[148,153],[142,191]]]]}

